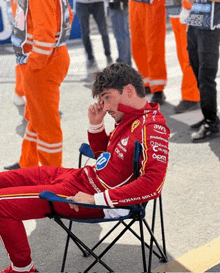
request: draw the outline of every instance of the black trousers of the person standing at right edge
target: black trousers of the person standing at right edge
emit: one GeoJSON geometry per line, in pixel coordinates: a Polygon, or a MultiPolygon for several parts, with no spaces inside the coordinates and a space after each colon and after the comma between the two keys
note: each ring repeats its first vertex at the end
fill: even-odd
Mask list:
{"type": "Polygon", "coordinates": [[[204,118],[217,121],[216,74],[219,60],[220,29],[188,27],[189,60],[197,79],[204,118]]]}

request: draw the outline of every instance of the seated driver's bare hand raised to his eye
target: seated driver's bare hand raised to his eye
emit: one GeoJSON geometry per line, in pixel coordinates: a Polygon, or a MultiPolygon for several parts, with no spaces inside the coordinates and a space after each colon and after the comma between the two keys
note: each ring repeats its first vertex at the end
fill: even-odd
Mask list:
{"type": "Polygon", "coordinates": [[[100,99],[96,103],[89,106],[88,117],[90,124],[98,125],[102,122],[104,116],[106,115],[106,111],[103,111],[103,106],[103,101],[100,99]]]}

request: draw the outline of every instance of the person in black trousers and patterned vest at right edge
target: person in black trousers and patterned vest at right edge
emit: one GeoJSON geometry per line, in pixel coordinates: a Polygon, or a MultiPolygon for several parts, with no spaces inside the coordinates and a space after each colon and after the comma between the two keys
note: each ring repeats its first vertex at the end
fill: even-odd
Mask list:
{"type": "Polygon", "coordinates": [[[219,61],[220,3],[196,0],[186,18],[190,64],[196,76],[204,119],[192,126],[199,129],[191,135],[193,142],[219,136],[216,75],[219,61]]]}

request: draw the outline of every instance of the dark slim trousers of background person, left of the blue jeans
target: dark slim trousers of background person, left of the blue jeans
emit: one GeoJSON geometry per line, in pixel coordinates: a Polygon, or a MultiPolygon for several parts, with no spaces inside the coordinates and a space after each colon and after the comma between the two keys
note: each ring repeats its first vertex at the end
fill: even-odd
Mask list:
{"type": "Polygon", "coordinates": [[[82,41],[88,55],[88,59],[94,59],[92,44],[89,37],[89,16],[93,15],[97,25],[99,32],[102,36],[102,42],[105,50],[106,57],[111,55],[110,51],[110,43],[107,31],[107,25],[105,20],[105,10],[104,10],[104,2],[95,2],[95,3],[80,3],[76,2],[76,13],[79,18],[81,33],[82,33],[82,41]]]}

